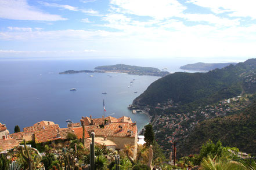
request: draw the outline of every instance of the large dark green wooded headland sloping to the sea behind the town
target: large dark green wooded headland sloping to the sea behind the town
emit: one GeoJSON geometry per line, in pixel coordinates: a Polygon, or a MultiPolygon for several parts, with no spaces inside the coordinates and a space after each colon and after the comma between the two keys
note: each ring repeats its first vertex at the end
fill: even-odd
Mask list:
{"type": "Polygon", "coordinates": [[[176,72],[150,84],[135,106],[156,106],[172,100],[179,105],[207,105],[256,90],[256,59],[207,73],[176,72]]]}

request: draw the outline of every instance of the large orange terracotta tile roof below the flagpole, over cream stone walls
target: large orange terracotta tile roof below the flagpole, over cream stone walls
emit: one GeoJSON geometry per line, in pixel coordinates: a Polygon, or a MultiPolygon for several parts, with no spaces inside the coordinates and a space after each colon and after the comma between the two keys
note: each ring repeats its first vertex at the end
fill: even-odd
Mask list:
{"type": "Polygon", "coordinates": [[[88,125],[85,126],[85,129],[89,134],[92,131],[95,132],[96,136],[135,137],[137,135],[137,125],[135,123],[106,124],[104,128],[100,128],[99,125],[88,125]]]}

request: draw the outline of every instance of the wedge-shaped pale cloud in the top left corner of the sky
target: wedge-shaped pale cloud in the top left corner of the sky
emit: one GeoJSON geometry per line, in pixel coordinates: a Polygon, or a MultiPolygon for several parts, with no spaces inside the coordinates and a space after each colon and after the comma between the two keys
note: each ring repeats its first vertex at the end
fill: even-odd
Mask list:
{"type": "Polygon", "coordinates": [[[67,20],[28,5],[26,0],[1,0],[0,18],[11,20],[58,21],[67,20]]]}

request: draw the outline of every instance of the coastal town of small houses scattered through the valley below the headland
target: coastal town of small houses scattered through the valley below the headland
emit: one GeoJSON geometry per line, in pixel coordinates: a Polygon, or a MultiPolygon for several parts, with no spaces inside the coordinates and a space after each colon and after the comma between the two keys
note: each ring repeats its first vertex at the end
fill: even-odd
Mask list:
{"type": "MultiPolygon", "coordinates": [[[[237,96],[229,99],[223,99],[216,104],[198,107],[192,112],[182,112],[170,114],[166,110],[176,108],[179,104],[169,99],[166,103],[158,103],[153,109],[157,114],[150,115],[149,106],[129,105],[129,109],[143,110],[150,116],[150,123],[153,125],[154,134],[158,144],[165,154],[170,153],[174,142],[185,140],[193,128],[201,121],[212,119],[214,117],[228,116],[234,114],[250,104],[251,95],[237,96]]],[[[151,108],[152,109],[152,108],[151,108]]],[[[142,111],[140,111],[142,112],[142,111]]],[[[140,132],[141,134],[143,133],[140,132]]]]}

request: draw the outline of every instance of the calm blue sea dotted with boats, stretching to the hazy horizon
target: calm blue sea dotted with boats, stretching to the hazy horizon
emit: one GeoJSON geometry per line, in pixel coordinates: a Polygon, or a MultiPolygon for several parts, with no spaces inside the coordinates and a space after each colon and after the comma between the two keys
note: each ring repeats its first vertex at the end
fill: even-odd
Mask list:
{"type": "Polygon", "coordinates": [[[6,124],[10,133],[14,131],[15,125],[23,130],[23,127],[41,120],[54,121],[64,128],[67,127],[67,119],[76,123],[80,122],[82,116],[102,117],[104,99],[106,116],[129,116],[141,130],[149,122],[149,117],[132,114],[127,107],[160,77],[123,73],[59,75],[59,72],[69,69],[93,70],[95,66],[113,64],[153,66],[159,69],[166,67],[168,71],[176,72],[181,71],[179,66],[191,62],[194,61],[1,59],[0,122],[6,124]],[[133,79],[134,83],[128,88],[133,79]],[[70,88],[77,88],[77,91],[70,91],[70,88]]]}

